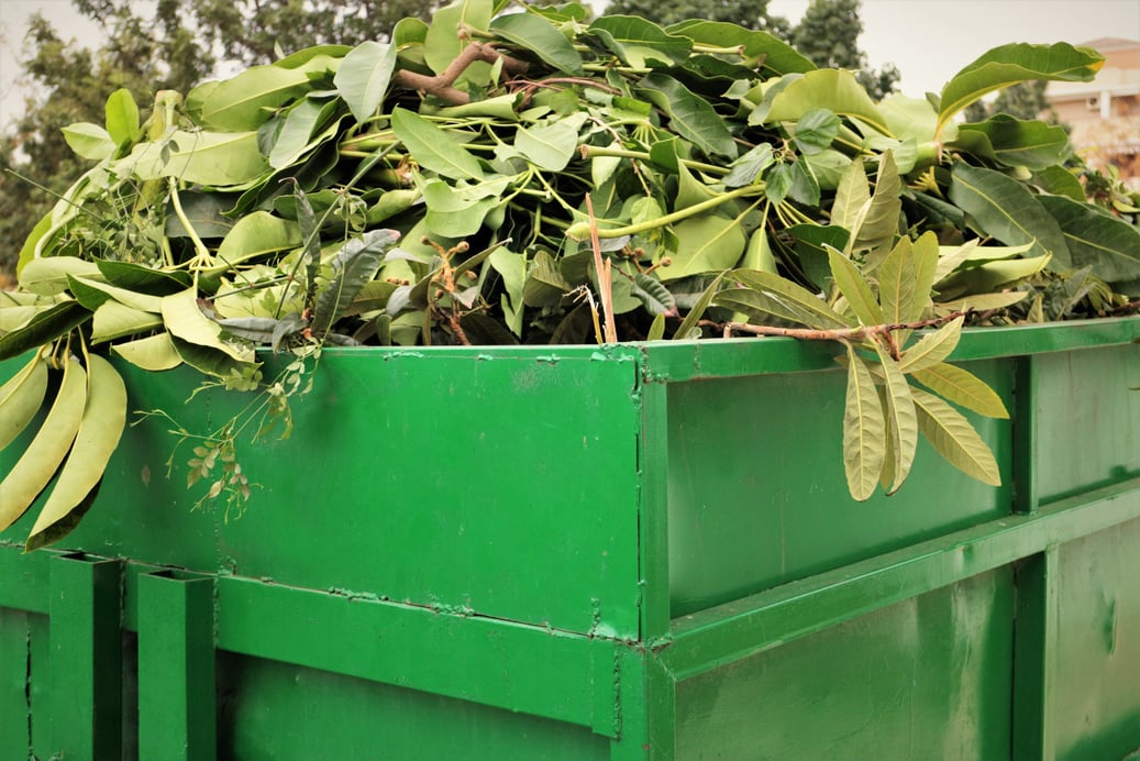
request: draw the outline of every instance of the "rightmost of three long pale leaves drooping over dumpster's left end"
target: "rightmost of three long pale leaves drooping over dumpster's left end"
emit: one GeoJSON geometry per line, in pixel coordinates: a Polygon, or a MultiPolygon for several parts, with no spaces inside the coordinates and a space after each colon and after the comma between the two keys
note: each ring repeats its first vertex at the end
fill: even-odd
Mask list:
{"type": "Polygon", "coordinates": [[[89,355],[87,383],[87,404],[71,455],[32,526],[25,551],[56,542],[75,526],[78,517],[72,513],[82,515],[90,507],[88,496],[103,479],[127,424],[127,387],[111,363],[89,355]]]}

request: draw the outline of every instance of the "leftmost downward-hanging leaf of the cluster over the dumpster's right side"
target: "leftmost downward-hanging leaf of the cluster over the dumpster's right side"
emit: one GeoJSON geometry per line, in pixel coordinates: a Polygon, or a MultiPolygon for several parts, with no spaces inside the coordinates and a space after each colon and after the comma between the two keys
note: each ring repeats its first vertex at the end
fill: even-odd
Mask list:
{"type": "Polygon", "coordinates": [[[874,494],[886,455],[886,422],[874,379],[855,349],[847,347],[847,404],[844,411],[844,470],[852,497],[874,494]]]}

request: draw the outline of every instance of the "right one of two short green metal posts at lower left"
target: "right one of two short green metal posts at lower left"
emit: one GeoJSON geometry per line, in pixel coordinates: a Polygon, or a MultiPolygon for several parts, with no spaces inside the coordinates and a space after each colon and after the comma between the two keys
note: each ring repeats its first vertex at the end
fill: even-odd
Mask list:
{"type": "Polygon", "coordinates": [[[139,576],[139,755],[217,753],[213,577],[139,576]]]}

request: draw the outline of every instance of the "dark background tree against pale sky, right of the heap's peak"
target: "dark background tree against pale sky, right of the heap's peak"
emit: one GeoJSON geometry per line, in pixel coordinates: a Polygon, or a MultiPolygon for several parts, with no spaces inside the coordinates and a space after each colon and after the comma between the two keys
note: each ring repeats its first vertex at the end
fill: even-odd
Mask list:
{"type": "Polygon", "coordinates": [[[812,0],[788,41],[816,66],[858,70],[860,83],[872,97],[882,98],[895,89],[899,73],[894,64],[880,70],[868,65],[858,47],[860,6],[860,0],[812,0]]]}

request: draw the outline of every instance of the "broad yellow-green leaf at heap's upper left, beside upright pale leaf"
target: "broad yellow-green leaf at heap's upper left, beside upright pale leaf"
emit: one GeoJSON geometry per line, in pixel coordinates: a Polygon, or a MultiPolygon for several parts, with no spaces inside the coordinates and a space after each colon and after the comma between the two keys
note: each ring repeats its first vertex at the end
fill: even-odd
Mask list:
{"type": "Polygon", "coordinates": [[[213,88],[202,102],[205,126],[225,132],[255,130],[274,111],[310,88],[299,68],[252,66],[213,88]]]}

